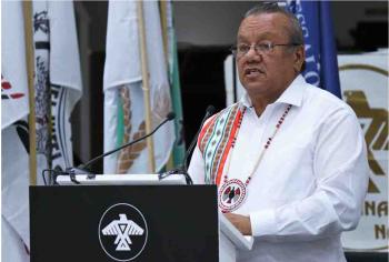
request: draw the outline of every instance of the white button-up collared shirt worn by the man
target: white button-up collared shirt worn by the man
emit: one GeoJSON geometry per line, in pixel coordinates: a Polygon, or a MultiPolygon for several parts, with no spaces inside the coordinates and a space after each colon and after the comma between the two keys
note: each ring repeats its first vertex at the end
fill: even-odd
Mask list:
{"type": "MultiPolygon", "coordinates": [[[[301,75],[260,117],[248,97],[240,102],[247,110],[229,152],[228,179],[246,181],[253,172],[248,196],[235,213],[250,216],[255,244],[238,261],[346,261],[340,234],[358,223],[369,173],[356,114],[301,75]],[[287,104],[292,108],[253,171],[287,104]]],[[[189,174],[205,183],[198,147],[189,174]]]]}

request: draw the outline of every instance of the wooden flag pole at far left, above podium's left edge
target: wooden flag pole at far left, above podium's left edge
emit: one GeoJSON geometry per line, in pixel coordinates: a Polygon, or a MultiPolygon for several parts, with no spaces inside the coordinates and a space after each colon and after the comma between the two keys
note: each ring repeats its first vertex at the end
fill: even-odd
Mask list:
{"type": "Polygon", "coordinates": [[[30,143],[30,184],[37,184],[37,141],[36,141],[36,103],[34,103],[34,56],[32,42],[32,1],[23,1],[26,64],[29,87],[29,143],[30,143]]]}

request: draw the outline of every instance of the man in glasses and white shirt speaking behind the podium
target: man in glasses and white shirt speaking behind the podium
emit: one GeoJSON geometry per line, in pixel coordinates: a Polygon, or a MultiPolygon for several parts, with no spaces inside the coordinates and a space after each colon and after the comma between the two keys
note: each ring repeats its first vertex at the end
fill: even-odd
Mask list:
{"type": "Polygon", "coordinates": [[[219,208],[253,248],[239,261],[346,261],[367,192],[363,133],[352,110],[301,77],[293,14],[251,9],[233,50],[247,94],[203,125],[189,173],[218,184],[219,208]]]}

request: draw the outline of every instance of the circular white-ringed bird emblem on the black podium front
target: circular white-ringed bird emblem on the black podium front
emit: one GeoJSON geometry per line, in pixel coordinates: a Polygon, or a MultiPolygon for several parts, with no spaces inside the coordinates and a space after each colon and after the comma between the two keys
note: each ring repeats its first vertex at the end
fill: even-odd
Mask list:
{"type": "Polygon", "coordinates": [[[116,261],[136,259],[144,249],[148,228],[143,214],[133,205],[118,203],[102,214],[99,241],[108,256],[116,261]]]}

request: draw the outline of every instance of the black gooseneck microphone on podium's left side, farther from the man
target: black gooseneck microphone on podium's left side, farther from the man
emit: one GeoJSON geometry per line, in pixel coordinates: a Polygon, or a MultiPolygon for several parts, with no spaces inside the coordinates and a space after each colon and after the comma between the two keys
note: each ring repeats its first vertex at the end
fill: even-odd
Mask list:
{"type": "Polygon", "coordinates": [[[98,160],[100,160],[100,159],[102,159],[102,158],[104,158],[104,157],[107,157],[107,155],[110,155],[110,154],[112,154],[112,153],[114,153],[114,152],[117,152],[117,151],[119,151],[119,150],[122,150],[122,149],[124,149],[124,148],[127,148],[127,147],[130,147],[130,145],[132,145],[132,144],[134,144],[134,143],[138,143],[138,142],[142,141],[143,139],[147,139],[148,137],[150,137],[150,135],[152,135],[154,132],[157,132],[157,130],[160,129],[164,123],[167,123],[168,121],[173,120],[174,118],[176,118],[176,113],[174,113],[174,112],[169,112],[169,113],[167,114],[166,119],[164,119],[160,124],[158,124],[158,127],[154,128],[150,133],[148,133],[148,134],[146,134],[146,135],[143,135],[143,137],[137,139],[137,140],[133,140],[133,141],[128,142],[128,143],[124,143],[123,145],[121,145],[121,147],[119,147],[119,148],[117,148],[117,149],[113,149],[113,150],[108,151],[108,152],[106,152],[106,153],[103,153],[103,154],[100,154],[100,155],[98,155],[98,157],[96,157],[96,158],[89,160],[87,163],[80,164],[80,165],[77,167],[77,168],[67,168],[62,174],[69,174],[71,181],[74,182],[74,183],[77,183],[77,184],[78,184],[79,182],[76,180],[76,174],[88,174],[88,178],[94,177],[94,174],[92,174],[91,172],[88,171],[88,167],[89,167],[89,165],[91,165],[91,164],[94,163],[96,161],[98,161],[98,160]]]}

